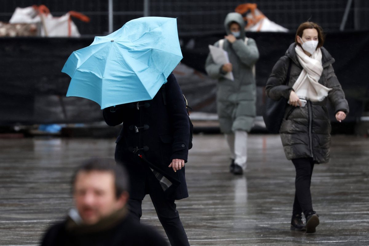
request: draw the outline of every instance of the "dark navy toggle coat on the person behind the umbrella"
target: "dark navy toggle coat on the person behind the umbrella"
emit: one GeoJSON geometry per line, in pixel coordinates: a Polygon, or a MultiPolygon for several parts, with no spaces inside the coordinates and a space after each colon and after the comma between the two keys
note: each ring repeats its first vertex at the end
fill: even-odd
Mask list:
{"type": "Polygon", "coordinates": [[[188,197],[185,168],[174,172],[168,167],[173,159],[187,162],[190,126],[182,91],[173,74],[152,100],[105,108],[110,126],[123,127],[117,138],[115,161],[130,174],[130,197],[143,199],[148,166],[169,179],[173,185],[165,191],[168,198],[188,197]],[[164,90],[164,91],[162,91],[164,90]],[[165,103],[166,102],[166,105],[165,103]]]}

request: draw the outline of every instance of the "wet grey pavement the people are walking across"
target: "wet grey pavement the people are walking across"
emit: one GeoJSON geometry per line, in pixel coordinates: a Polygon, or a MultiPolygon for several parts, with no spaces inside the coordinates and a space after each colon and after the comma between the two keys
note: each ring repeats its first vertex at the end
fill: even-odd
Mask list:
{"type": "MultiPolygon", "coordinates": [[[[314,167],[317,232],[290,231],[294,167],[278,135],[249,135],[244,175],[228,173],[222,135],[195,135],[189,198],[177,201],[191,245],[369,245],[369,138],[332,136],[331,160],[314,167]]],[[[38,245],[72,207],[70,176],[86,157],[114,156],[114,139],[0,139],[0,246],[38,245]]],[[[163,229],[149,196],[142,222],[163,229]]]]}

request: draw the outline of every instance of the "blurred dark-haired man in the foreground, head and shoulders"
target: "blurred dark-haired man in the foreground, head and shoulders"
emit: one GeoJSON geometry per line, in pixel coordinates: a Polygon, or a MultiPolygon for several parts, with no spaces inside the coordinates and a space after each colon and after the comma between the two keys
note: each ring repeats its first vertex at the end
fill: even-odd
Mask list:
{"type": "Polygon", "coordinates": [[[114,160],[88,160],[77,168],[72,185],[76,209],[46,232],[42,246],[168,245],[128,216],[128,177],[114,160]]]}

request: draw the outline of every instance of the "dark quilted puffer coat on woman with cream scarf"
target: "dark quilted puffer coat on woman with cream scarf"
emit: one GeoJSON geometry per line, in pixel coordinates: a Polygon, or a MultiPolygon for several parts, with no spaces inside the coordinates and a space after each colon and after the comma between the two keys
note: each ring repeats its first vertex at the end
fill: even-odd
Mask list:
{"type": "MultiPolygon", "coordinates": [[[[286,54],[282,56],[268,78],[266,94],[273,100],[281,97],[289,99],[293,84],[299,77],[302,67],[295,52],[296,44],[291,44],[286,54]],[[287,69],[291,59],[289,83],[285,85],[287,69]]],[[[305,107],[288,105],[279,133],[282,139],[284,153],[288,160],[312,157],[314,163],[327,163],[331,145],[331,124],[328,115],[327,100],[334,105],[335,112],[349,112],[344,91],[334,73],[334,59],[328,51],[321,47],[323,73],[319,83],[331,88],[328,97],[321,102],[308,101],[305,107]]]]}

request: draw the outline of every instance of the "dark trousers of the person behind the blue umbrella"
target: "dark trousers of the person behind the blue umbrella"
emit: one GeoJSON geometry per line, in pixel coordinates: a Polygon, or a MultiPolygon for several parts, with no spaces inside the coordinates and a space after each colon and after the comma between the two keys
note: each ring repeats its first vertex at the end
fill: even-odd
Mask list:
{"type": "MultiPolygon", "coordinates": [[[[186,232],[184,231],[176,209],[175,200],[168,199],[165,196],[159,181],[149,168],[146,170],[145,189],[150,195],[152,204],[154,205],[159,221],[168,236],[170,245],[189,246],[190,244],[188,242],[186,232]]],[[[132,217],[137,219],[139,222],[142,216],[142,200],[129,198],[128,206],[131,215],[133,215],[132,217]]]]}

